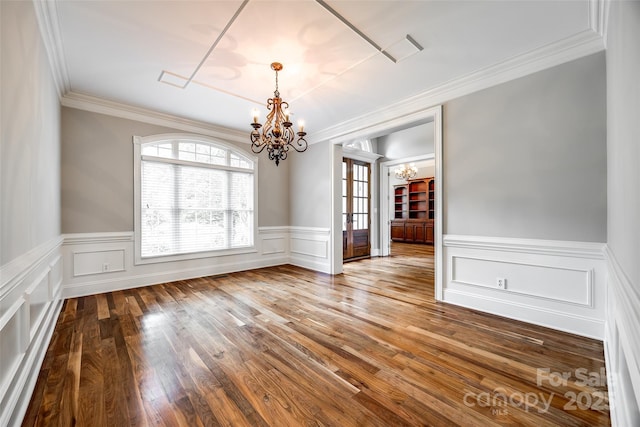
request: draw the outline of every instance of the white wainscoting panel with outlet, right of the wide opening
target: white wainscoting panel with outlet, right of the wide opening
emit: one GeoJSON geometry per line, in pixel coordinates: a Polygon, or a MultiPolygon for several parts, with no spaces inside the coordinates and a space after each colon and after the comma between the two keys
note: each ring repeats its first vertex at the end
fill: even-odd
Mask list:
{"type": "Polygon", "coordinates": [[[604,244],[455,235],[443,241],[444,301],[604,338],[604,244]]]}

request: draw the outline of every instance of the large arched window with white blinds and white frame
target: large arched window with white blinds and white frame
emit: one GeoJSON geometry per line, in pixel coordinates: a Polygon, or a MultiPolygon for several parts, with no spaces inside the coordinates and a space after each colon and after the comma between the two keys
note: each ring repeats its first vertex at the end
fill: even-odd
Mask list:
{"type": "Polygon", "coordinates": [[[252,248],[256,160],[198,135],[134,137],[136,263],[252,248]]]}

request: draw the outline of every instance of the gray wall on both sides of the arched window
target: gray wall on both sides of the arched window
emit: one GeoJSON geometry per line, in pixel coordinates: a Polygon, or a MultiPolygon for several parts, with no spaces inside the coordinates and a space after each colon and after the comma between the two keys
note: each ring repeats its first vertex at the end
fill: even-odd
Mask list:
{"type": "MultiPolygon", "coordinates": [[[[161,133],[184,132],[62,109],[63,233],[133,230],[133,136],[161,133]]],[[[248,143],[234,145],[250,152],[248,143]]],[[[287,164],[272,163],[264,155],[258,161],[259,226],[289,222],[287,164]]]]}

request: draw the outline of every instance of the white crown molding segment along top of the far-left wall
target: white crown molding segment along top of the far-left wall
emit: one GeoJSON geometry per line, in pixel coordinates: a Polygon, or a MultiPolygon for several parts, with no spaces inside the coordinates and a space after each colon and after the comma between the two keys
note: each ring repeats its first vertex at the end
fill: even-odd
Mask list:
{"type": "Polygon", "coordinates": [[[60,21],[58,20],[58,6],[55,1],[33,0],[33,6],[40,29],[42,42],[44,43],[53,80],[58,90],[58,97],[67,93],[71,84],[69,83],[69,72],[65,61],[64,47],[60,33],[60,21]]]}

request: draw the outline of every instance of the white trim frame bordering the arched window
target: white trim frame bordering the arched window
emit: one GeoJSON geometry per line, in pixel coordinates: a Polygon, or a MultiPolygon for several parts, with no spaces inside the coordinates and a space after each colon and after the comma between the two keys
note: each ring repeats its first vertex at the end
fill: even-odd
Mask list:
{"type": "MultiPolygon", "coordinates": [[[[173,161],[172,161],[173,162],[173,161]]],[[[181,161],[176,161],[175,163],[183,163],[181,161]]],[[[189,163],[189,162],[185,162],[189,163]]],[[[203,167],[207,167],[206,165],[202,165],[203,167]]],[[[223,170],[246,170],[242,168],[235,168],[231,166],[220,166],[219,169],[223,170]]],[[[189,133],[165,133],[158,135],[150,135],[150,136],[134,136],[133,137],[133,246],[134,246],[134,264],[155,264],[160,262],[168,262],[168,261],[185,261],[191,259],[199,259],[199,258],[210,258],[210,257],[219,257],[219,256],[229,256],[229,255],[239,255],[239,254],[249,254],[256,253],[256,239],[258,237],[258,157],[249,153],[242,148],[239,148],[235,145],[229,144],[224,141],[220,141],[218,139],[210,138],[204,135],[198,134],[189,134],[189,133]],[[242,154],[246,158],[253,161],[253,245],[246,246],[242,248],[236,249],[221,249],[214,251],[203,251],[203,252],[192,252],[187,254],[177,254],[177,255],[160,255],[155,257],[142,257],[142,246],[141,246],[141,209],[140,209],[140,201],[141,201],[141,165],[142,165],[142,146],[145,144],[160,142],[166,140],[192,140],[192,141],[202,141],[210,144],[218,145],[220,147],[226,148],[231,151],[236,151],[239,154],[242,154]]]]}

